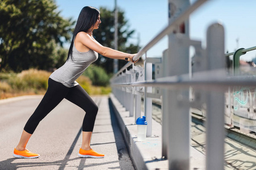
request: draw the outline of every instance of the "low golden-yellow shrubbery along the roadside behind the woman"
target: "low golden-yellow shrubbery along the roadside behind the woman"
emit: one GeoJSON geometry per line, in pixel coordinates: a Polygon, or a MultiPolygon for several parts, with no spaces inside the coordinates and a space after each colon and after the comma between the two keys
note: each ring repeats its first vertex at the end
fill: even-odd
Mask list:
{"type": "MultiPolygon", "coordinates": [[[[48,87],[51,72],[43,70],[24,70],[21,73],[0,73],[0,99],[19,95],[44,94],[48,87]]],[[[92,81],[81,75],[77,82],[89,95],[109,94],[110,87],[92,86],[92,81]]]]}

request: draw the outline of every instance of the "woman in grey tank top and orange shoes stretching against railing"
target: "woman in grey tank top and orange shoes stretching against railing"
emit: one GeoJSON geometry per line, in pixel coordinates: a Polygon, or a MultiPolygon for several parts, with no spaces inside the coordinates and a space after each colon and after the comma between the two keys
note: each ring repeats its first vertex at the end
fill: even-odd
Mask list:
{"type": "Polygon", "coordinates": [[[89,6],[82,8],[73,32],[67,61],[49,76],[47,92],[24,126],[18,146],[14,148],[14,157],[38,158],[40,156],[26,149],[27,142],[39,122],[65,98],[86,112],[82,123],[82,146],[79,150],[79,156],[104,158],[103,154],[98,154],[90,147],[90,138],[92,137],[98,107],[75,80],[90,63],[97,60],[98,53],[105,57],[125,59],[133,63],[137,61],[133,61],[135,54],[127,54],[107,48],[93,38],[93,30],[98,29],[100,23],[100,11],[97,8],[89,6]]]}

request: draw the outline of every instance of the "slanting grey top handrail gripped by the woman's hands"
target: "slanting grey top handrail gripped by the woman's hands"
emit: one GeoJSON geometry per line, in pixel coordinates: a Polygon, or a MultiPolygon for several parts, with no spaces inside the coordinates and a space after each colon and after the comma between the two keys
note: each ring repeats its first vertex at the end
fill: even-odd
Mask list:
{"type": "MultiPolygon", "coordinates": [[[[164,36],[174,31],[174,28],[176,27],[176,25],[179,25],[185,20],[187,20],[189,18],[189,15],[192,14],[193,11],[195,11],[199,6],[201,6],[206,1],[208,0],[197,0],[195,3],[189,6],[186,10],[184,10],[184,12],[180,14],[177,18],[175,18],[171,24],[169,24],[166,28],[164,28],[163,31],[158,33],[158,35],[156,35],[150,42],[148,42],[147,45],[145,45],[141,50],[139,50],[139,52],[133,57],[133,60],[136,61],[137,59],[141,58],[141,56],[144,53],[146,53],[148,49],[150,49],[157,42],[159,42],[164,36]]],[[[113,77],[122,73],[122,71],[125,70],[127,67],[129,67],[131,64],[132,62],[126,63],[126,65],[124,65],[113,77]]]]}

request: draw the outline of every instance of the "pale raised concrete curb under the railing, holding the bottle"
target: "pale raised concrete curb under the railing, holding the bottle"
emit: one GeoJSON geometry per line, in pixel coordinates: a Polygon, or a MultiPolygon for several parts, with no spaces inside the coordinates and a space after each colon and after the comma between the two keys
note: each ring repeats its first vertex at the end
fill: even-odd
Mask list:
{"type": "Polygon", "coordinates": [[[162,126],[152,120],[152,137],[146,141],[137,141],[137,125],[135,118],[129,117],[129,112],[118,102],[113,95],[110,95],[110,104],[117,117],[119,128],[125,138],[127,149],[137,169],[168,169],[168,160],[162,159],[162,126]]]}

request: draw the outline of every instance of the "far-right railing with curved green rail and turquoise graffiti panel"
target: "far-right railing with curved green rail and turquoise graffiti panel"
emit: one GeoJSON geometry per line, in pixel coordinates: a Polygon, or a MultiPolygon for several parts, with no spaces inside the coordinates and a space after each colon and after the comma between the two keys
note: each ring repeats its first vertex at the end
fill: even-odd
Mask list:
{"type": "MultiPolygon", "coordinates": [[[[246,52],[256,50],[256,46],[251,48],[240,48],[235,52],[225,54],[226,57],[233,56],[233,75],[240,76],[241,79],[255,79],[255,69],[250,69],[250,74],[241,73],[240,57],[246,52]]],[[[255,84],[248,87],[246,84],[240,86],[230,86],[225,97],[225,123],[236,126],[240,129],[249,130],[256,133],[256,91],[255,84]]]]}

